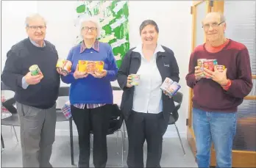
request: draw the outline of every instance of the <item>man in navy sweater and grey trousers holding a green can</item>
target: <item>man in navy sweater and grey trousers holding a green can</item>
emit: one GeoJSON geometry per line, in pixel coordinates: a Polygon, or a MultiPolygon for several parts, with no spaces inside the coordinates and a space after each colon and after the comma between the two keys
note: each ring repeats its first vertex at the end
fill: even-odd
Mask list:
{"type": "Polygon", "coordinates": [[[46,22],[40,15],[26,18],[26,33],[29,37],[7,52],[1,81],[15,91],[23,167],[51,167],[60,87],[55,67],[58,55],[55,46],[44,40],[46,22]],[[38,65],[41,73],[32,76],[31,65],[38,65]]]}

